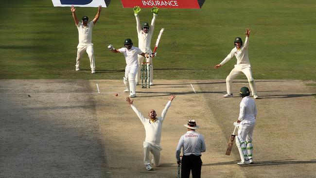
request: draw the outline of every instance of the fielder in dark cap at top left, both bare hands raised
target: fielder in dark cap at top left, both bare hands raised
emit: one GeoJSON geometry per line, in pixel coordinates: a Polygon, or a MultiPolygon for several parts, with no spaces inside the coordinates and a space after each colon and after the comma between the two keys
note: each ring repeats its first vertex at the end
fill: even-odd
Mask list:
{"type": "Polygon", "coordinates": [[[80,59],[85,53],[85,51],[88,53],[89,60],[90,60],[90,68],[91,73],[95,73],[95,61],[94,61],[94,54],[93,54],[93,43],[92,43],[92,29],[95,25],[95,23],[98,21],[102,6],[99,5],[98,12],[93,18],[92,21],[88,22],[88,17],[84,16],[82,17],[82,22],[79,23],[79,20],[75,14],[76,9],[72,5],[70,7],[70,10],[72,12],[72,18],[74,19],[74,22],[78,28],[78,34],[79,34],[79,44],[77,46],[77,58],[76,58],[76,71],[79,71],[80,68],[80,59]]]}

